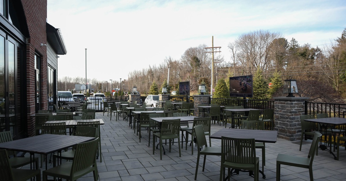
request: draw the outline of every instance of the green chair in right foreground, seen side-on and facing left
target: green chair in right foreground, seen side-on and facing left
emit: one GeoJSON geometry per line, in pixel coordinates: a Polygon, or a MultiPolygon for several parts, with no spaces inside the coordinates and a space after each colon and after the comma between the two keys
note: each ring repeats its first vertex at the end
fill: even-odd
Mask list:
{"type": "Polygon", "coordinates": [[[308,158],[279,153],[276,158],[276,181],[280,181],[281,165],[307,168],[309,169],[310,181],[313,181],[312,163],[313,163],[313,158],[315,157],[315,152],[318,147],[318,142],[320,141],[321,137],[322,137],[321,133],[318,133],[318,132],[314,133],[313,140],[312,140],[309,154],[308,154],[308,158]]]}

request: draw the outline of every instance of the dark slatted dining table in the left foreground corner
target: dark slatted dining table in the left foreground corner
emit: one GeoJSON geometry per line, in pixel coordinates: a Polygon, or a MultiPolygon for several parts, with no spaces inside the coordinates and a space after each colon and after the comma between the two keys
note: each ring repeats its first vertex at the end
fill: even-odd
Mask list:
{"type": "MultiPolygon", "coordinates": [[[[34,159],[35,153],[43,154],[45,155],[47,170],[47,155],[49,153],[57,151],[61,154],[61,150],[73,147],[78,143],[91,141],[93,139],[95,138],[72,135],[41,134],[34,137],[0,143],[0,149],[28,152],[30,153],[30,162],[32,159],[34,159]]],[[[30,169],[32,168],[33,167],[30,164],[30,169]]]]}

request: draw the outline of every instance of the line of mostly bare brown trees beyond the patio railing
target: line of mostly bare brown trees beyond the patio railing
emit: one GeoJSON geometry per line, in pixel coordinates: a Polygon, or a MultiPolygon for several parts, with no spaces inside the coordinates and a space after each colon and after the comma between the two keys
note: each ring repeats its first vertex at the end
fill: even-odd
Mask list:
{"type": "MultiPolygon", "coordinates": [[[[206,47],[206,44],[190,47],[179,60],[166,57],[158,65],[129,72],[125,82],[135,85],[141,94],[157,94],[152,91],[152,86],[158,93],[161,93],[158,87],[179,91],[179,82],[183,81],[190,82],[191,95],[197,92],[198,84],[206,84],[210,92],[211,53],[206,53],[206,47]]],[[[278,32],[257,30],[241,34],[228,44],[228,50],[231,53],[229,62],[221,54],[214,54],[217,60],[213,65],[216,86],[221,79],[229,86],[228,77],[252,74],[254,98],[271,99],[282,95],[280,85],[291,76],[297,80],[297,96],[324,102],[343,102],[346,96],[346,28],[340,37],[321,48],[311,47],[309,43],[299,44],[294,38],[288,41],[278,32]],[[269,82],[272,83],[271,88],[268,87],[269,82]]],[[[83,82],[83,78],[71,80],[76,81],[83,82]]],[[[97,80],[90,82],[98,84],[100,90],[104,86],[97,80]]],[[[64,86],[64,83],[60,84],[64,86]]]]}

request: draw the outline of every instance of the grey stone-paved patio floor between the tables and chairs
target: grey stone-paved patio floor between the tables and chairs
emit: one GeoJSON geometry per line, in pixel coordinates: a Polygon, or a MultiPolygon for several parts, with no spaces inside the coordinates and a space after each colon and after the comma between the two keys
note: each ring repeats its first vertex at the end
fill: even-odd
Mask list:
{"type": "MultiPolygon", "coordinates": [[[[99,159],[97,162],[101,181],[194,180],[197,150],[191,155],[191,147],[185,150],[184,144],[184,148],[181,150],[182,156],[179,157],[177,144],[174,144],[172,152],[166,151],[166,155],[163,155],[162,160],[160,160],[160,150],[156,150],[155,155],[153,155],[152,144],[151,147],[148,147],[148,134],[146,131],[142,131],[142,142],[139,143],[134,130],[122,118],[115,121],[115,117],[112,117],[112,121],[110,121],[107,113],[104,116],[102,113],[96,113],[95,119],[103,119],[105,122],[104,125],[101,125],[103,159],[102,163],[99,162],[99,159]]],[[[224,127],[212,124],[211,133],[221,128],[224,127]]],[[[221,146],[220,140],[212,139],[211,141],[212,146],[221,146]]],[[[310,143],[311,140],[303,141],[302,151],[299,151],[299,141],[291,142],[277,139],[276,143],[266,143],[266,165],[264,167],[266,179],[263,179],[260,174],[259,180],[276,180],[276,156],[278,153],[306,157],[310,143]]],[[[168,149],[168,144],[165,149],[168,149]]],[[[257,149],[256,154],[261,157],[261,150],[257,149]]],[[[261,159],[260,167],[262,165],[261,159]]],[[[327,151],[318,150],[318,156],[315,156],[313,164],[314,179],[316,181],[346,181],[345,159],[346,151],[344,149],[340,151],[339,161],[334,160],[333,156],[327,151]]],[[[208,156],[206,162],[206,169],[202,172],[203,158],[201,158],[197,180],[219,180],[220,157],[208,156]]],[[[281,180],[310,180],[308,169],[286,167],[285,165],[282,167],[284,168],[281,168],[281,180]]],[[[93,180],[92,173],[79,180],[93,180]]],[[[253,180],[253,178],[250,178],[245,172],[240,172],[240,175],[232,176],[231,180],[247,181],[253,180]]]]}

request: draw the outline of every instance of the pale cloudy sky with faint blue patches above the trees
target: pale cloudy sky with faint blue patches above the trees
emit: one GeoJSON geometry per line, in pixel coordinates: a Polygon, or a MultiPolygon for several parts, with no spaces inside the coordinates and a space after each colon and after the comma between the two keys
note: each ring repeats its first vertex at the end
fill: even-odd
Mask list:
{"type": "Polygon", "coordinates": [[[119,81],[129,72],[180,59],[199,44],[222,47],[240,34],[280,32],[290,41],[328,46],[346,27],[345,0],[48,0],[47,21],[60,28],[67,54],[58,79],[119,81]]]}

